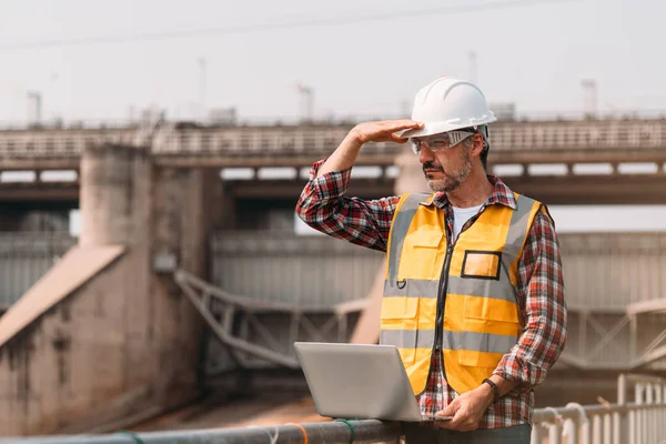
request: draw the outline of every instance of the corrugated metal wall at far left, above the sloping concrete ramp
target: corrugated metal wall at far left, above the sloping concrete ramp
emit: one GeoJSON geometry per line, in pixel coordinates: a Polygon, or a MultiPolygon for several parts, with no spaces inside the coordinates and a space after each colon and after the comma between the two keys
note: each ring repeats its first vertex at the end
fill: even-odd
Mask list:
{"type": "Polygon", "coordinates": [[[0,233],[0,307],[13,304],[75,243],[67,232],[0,233]]]}

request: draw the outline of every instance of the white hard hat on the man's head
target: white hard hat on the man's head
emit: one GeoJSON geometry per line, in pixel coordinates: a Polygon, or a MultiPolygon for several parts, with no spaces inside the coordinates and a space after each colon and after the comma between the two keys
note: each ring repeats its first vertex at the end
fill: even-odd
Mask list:
{"type": "Polygon", "coordinates": [[[401,137],[420,138],[480,127],[495,122],[497,118],[478,87],[464,80],[443,77],[416,93],[412,120],[423,122],[423,128],[405,130],[400,133],[401,137]]]}

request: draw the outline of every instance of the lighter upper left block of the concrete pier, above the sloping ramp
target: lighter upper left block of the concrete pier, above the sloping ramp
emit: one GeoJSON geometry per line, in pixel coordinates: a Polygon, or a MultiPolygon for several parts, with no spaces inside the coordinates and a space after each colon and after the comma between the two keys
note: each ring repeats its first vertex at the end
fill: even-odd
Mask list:
{"type": "Polygon", "coordinates": [[[89,145],[81,157],[81,246],[130,244],[141,235],[150,186],[148,152],[132,147],[89,145]],[[143,206],[143,208],[142,208],[143,206]],[[138,231],[139,230],[139,231],[138,231]]]}

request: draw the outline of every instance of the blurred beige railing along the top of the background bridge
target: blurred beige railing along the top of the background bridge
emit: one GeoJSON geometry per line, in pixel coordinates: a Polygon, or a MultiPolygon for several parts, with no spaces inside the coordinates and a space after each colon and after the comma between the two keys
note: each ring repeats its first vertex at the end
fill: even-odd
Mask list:
{"type": "MultiPolygon", "coordinates": [[[[171,125],[173,127],[173,125],[171,125]]],[[[332,152],[352,128],[343,125],[228,127],[168,129],[153,141],[162,155],[321,154],[332,152]]],[[[72,157],[90,143],[139,144],[135,128],[101,130],[36,130],[0,132],[0,157],[72,157]]],[[[141,139],[143,140],[143,139],[141,139]]],[[[491,131],[494,152],[562,150],[662,150],[666,147],[666,119],[498,122],[491,131]]],[[[143,145],[144,143],[140,143],[143,145]]],[[[374,154],[394,153],[401,147],[377,143],[374,154]]]]}

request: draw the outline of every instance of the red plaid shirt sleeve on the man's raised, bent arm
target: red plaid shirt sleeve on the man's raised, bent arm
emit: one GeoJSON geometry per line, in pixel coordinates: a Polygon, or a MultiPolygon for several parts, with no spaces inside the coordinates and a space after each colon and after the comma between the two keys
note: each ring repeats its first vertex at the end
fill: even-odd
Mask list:
{"type": "Polygon", "coordinates": [[[379,200],[346,198],[352,170],[316,176],[314,164],[296,203],[296,214],[313,229],[369,249],[386,251],[389,232],[400,196],[379,200]]]}

